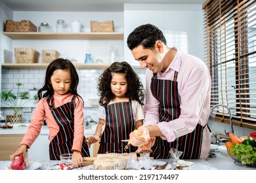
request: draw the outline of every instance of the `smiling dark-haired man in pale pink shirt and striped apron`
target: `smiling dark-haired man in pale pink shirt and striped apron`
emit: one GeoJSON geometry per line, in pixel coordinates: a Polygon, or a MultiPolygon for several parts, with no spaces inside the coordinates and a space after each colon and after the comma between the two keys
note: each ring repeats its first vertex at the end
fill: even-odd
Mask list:
{"type": "Polygon", "coordinates": [[[205,63],[169,48],[161,30],[151,24],[137,27],[127,45],[140,67],[147,68],[144,124],[130,134],[131,144],[143,146],[150,136],[154,159],[168,159],[171,148],[182,152],[180,159],[206,159],[211,76],[205,63]],[[142,133],[148,138],[139,137],[142,133]]]}

